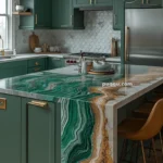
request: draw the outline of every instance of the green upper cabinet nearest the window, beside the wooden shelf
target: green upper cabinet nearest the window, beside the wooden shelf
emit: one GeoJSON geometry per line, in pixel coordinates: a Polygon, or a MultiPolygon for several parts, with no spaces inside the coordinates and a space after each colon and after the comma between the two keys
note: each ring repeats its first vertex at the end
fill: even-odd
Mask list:
{"type": "Polygon", "coordinates": [[[21,29],[50,29],[52,27],[52,0],[21,0],[20,3],[32,10],[32,15],[21,16],[21,29]]]}

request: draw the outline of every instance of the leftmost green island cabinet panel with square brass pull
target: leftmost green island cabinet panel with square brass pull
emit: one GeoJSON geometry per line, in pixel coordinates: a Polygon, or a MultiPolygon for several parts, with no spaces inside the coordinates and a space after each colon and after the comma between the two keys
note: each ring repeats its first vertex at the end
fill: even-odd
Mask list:
{"type": "Polygon", "coordinates": [[[21,98],[0,93],[0,162],[21,162],[21,98]],[[3,100],[7,108],[2,110],[3,100]]]}

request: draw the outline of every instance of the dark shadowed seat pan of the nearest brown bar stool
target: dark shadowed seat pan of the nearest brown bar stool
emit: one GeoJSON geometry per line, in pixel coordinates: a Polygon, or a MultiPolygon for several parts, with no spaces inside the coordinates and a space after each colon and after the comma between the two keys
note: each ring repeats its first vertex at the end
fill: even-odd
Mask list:
{"type": "Polygon", "coordinates": [[[129,139],[129,135],[137,133],[147,122],[145,118],[125,118],[117,126],[117,135],[129,139]]]}

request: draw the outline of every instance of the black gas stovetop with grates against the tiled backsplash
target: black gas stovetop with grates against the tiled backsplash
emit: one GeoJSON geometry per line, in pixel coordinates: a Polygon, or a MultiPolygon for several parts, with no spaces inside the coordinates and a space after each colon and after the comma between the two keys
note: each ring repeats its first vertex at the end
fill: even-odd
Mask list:
{"type": "MultiPolygon", "coordinates": [[[[72,57],[82,57],[82,53],[72,53],[70,54],[72,57]]],[[[96,53],[96,52],[83,52],[83,57],[86,58],[109,58],[109,53],[96,53]]]]}

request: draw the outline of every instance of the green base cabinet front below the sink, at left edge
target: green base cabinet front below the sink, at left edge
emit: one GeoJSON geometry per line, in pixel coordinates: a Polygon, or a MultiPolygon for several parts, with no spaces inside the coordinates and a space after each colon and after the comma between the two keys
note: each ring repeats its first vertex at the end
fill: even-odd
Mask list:
{"type": "Polygon", "coordinates": [[[27,61],[0,63],[0,78],[27,74],[27,61]]]}

